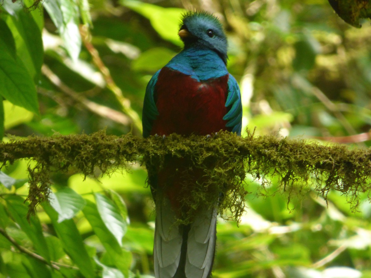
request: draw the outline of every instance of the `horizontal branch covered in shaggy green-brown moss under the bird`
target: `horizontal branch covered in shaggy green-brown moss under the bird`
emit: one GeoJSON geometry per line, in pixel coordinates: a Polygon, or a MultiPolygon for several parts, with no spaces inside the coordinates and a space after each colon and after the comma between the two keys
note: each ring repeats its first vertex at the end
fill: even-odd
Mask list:
{"type": "MultiPolygon", "coordinates": [[[[237,219],[247,194],[246,173],[263,185],[269,182],[268,177],[277,176],[282,190],[288,192],[314,189],[326,198],[335,189],[347,195],[354,208],[358,205],[358,193],[370,193],[371,151],[346,145],[320,145],[252,134],[241,138],[229,132],[211,138],[173,134],[165,139],[154,136],[142,139],[134,135],[106,135],[104,131],[49,138],[30,136],[0,144],[1,166],[21,158],[36,161],[35,167],[29,167],[27,199],[31,213],[47,198],[53,172],[73,168],[88,176],[97,168],[110,173],[133,162],[159,168],[169,156],[188,159],[192,167],[202,169],[204,176],[210,177],[204,187],[210,189],[212,185],[216,192],[224,193],[219,212],[229,209],[230,217],[237,219]]],[[[193,201],[196,204],[208,201],[210,198],[205,194],[209,194],[209,189],[196,192],[193,201]]]]}

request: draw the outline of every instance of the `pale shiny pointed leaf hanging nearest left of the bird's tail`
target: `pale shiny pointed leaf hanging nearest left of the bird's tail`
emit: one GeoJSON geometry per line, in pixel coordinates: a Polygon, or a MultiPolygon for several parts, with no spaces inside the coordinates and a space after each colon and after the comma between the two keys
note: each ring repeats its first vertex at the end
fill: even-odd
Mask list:
{"type": "Polygon", "coordinates": [[[118,244],[122,245],[122,237],[127,231],[126,219],[120,214],[119,208],[105,195],[94,193],[96,206],[105,226],[115,236],[118,244]]]}

